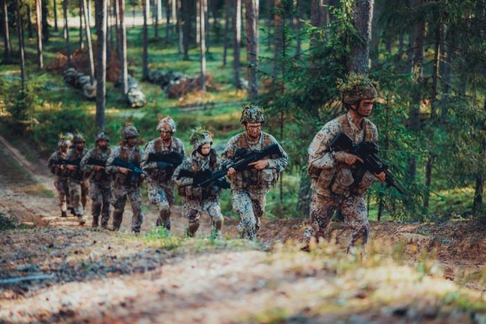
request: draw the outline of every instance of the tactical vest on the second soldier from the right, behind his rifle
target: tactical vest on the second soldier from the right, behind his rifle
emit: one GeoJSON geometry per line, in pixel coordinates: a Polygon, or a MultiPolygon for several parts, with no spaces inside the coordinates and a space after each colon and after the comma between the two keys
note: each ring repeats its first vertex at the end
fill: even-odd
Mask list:
{"type": "MultiPolygon", "coordinates": [[[[270,144],[273,144],[271,137],[267,133],[261,133],[262,149],[266,148],[270,144]]],[[[245,148],[247,151],[251,151],[248,141],[246,140],[246,133],[241,133],[238,137],[237,149],[245,148]]],[[[265,156],[262,160],[270,159],[271,157],[265,156]]],[[[231,182],[239,189],[269,189],[275,185],[278,181],[278,172],[276,169],[265,168],[263,170],[257,170],[253,167],[237,171],[231,176],[231,182]]]]}

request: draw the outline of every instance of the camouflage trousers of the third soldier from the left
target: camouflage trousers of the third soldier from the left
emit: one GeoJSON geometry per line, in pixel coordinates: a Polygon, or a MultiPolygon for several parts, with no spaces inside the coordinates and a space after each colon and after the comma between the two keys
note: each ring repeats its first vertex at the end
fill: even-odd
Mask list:
{"type": "Polygon", "coordinates": [[[93,216],[92,227],[98,227],[100,214],[101,227],[106,228],[108,226],[112,195],[113,188],[110,181],[90,181],[91,214],[93,216]]]}

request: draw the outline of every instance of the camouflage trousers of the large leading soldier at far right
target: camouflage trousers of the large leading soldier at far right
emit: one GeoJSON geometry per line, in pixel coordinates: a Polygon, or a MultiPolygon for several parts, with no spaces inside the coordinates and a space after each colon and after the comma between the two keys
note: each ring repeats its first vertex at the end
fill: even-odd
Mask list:
{"type": "Polygon", "coordinates": [[[317,194],[314,191],[310,203],[311,226],[305,229],[301,241],[309,244],[310,239],[314,237],[319,242],[319,238],[326,235],[330,221],[333,219],[333,214],[337,209],[341,211],[344,221],[352,230],[348,251],[358,242],[364,246],[368,241],[369,222],[368,212],[364,204],[364,195],[362,194],[353,194],[347,198],[331,198],[317,194]]]}

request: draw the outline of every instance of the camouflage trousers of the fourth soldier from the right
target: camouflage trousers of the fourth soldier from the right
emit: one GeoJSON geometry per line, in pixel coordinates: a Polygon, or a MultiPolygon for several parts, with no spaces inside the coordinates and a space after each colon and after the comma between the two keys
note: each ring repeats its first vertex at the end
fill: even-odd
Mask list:
{"type": "Polygon", "coordinates": [[[157,226],[170,230],[170,207],[174,204],[174,185],[149,181],[149,201],[158,207],[157,226]]]}

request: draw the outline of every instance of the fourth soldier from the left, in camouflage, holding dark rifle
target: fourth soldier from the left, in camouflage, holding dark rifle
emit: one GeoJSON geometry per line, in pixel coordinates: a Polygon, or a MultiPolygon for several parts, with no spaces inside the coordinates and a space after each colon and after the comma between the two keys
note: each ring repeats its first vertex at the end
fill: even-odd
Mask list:
{"type": "Polygon", "coordinates": [[[142,184],[145,175],[140,174],[140,178],[131,182],[131,170],[125,167],[118,167],[112,165],[113,161],[118,157],[124,162],[132,163],[140,166],[140,161],[144,151],[137,146],[138,130],[135,126],[125,126],[123,129],[123,142],[121,145],[113,148],[106,162],[106,170],[112,174],[113,179],[113,230],[119,230],[121,221],[123,220],[123,212],[125,210],[126,198],[130,199],[132,205],[132,231],[135,235],[140,234],[140,227],[144,221],[142,214],[142,191],[140,185],[142,184]]]}

